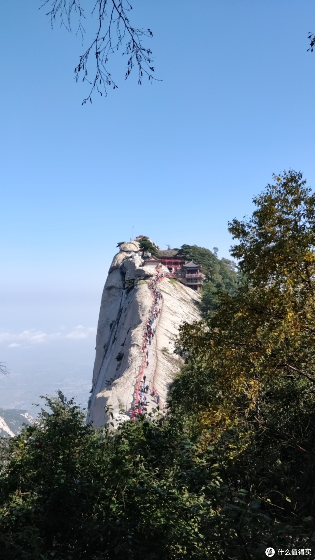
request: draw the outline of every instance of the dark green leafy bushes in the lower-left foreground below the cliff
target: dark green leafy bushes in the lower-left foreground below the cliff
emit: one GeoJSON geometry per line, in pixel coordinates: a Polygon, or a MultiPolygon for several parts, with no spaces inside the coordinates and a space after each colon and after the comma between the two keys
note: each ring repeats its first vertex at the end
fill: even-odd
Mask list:
{"type": "Polygon", "coordinates": [[[206,558],[174,421],[94,430],[61,393],[47,404],[2,446],[2,558],[206,558]]]}

